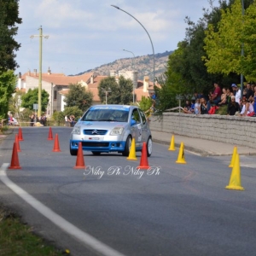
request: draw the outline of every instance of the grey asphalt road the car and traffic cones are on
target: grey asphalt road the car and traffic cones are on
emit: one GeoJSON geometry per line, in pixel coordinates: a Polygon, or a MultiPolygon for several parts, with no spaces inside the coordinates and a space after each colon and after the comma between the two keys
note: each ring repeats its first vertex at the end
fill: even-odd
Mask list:
{"type": "MultiPolygon", "coordinates": [[[[9,189],[2,168],[0,201],[57,247],[72,255],[256,255],[253,168],[241,166],[244,191],[225,189],[230,157],[185,152],[187,164],[181,165],[177,151],[154,143],[151,172],[136,172],[140,153],[131,161],[121,154],[84,152],[86,169],[75,170],[71,129],[52,131],[61,152],[52,152],[48,127],[22,129],[21,169],[6,173],[13,189],[24,190],[16,195],[9,189]]],[[[0,144],[1,165],[10,162],[14,141],[15,134],[0,144]]]]}

